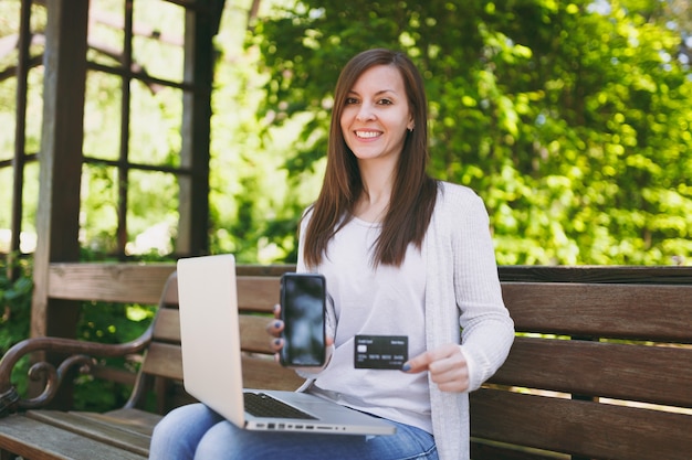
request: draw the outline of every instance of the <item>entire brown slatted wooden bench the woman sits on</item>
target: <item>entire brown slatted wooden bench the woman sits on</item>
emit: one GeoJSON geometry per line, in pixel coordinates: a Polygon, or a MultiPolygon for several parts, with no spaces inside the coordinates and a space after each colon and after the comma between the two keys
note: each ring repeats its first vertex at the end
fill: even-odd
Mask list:
{"type": "MultiPolygon", "coordinates": [[[[95,300],[123,300],[127,286],[136,284],[159,280],[160,291],[172,270],[151,275],[146,271],[150,267],[132,272],[115,267],[55,266],[52,296],[86,299],[96,289],[106,293],[95,300]]],[[[249,386],[300,384],[291,371],[268,357],[264,332],[279,276],[291,269],[239,267],[239,299],[243,311],[252,313],[243,315],[241,325],[248,352],[243,378],[249,386]]],[[[692,269],[501,267],[500,272],[518,336],[505,365],[471,395],[474,460],[690,458],[692,269]]],[[[102,356],[146,351],[124,408],[94,414],[42,409],[41,398],[9,403],[20,410],[0,418],[2,460],[12,458],[9,452],[38,460],[146,458],[160,414],[190,400],[179,383],[176,302],[174,276],[153,327],[136,341],[94,345],[34,339],[7,353],[0,363],[0,397],[6,405],[12,399],[9,370],[30,350],[61,345],[69,354],[102,356]],[[137,408],[151,387],[159,399],[157,414],[137,408]]],[[[85,357],[72,360],[91,363],[85,357]]]]}

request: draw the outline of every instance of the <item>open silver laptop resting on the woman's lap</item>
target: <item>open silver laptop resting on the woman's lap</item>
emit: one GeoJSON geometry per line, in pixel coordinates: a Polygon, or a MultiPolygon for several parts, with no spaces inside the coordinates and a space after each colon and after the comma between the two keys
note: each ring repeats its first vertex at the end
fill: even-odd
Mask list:
{"type": "Polygon", "coordinates": [[[178,300],[185,389],[238,427],[343,435],[396,432],[394,424],[315,395],[243,388],[233,255],[179,259],[178,300]],[[214,350],[213,360],[209,350],[214,350]],[[255,404],[265,407],[255,409],[255,404]]]}

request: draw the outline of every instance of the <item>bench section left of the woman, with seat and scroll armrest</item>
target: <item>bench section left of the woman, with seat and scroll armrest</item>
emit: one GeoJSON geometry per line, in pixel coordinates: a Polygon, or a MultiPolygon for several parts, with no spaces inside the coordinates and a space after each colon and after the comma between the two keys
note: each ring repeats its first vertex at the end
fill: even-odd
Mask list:
{"type": "MultiPolygon", "coordinates": [[[[239,269],[241,270],[241,269],[239,269]]],[[[245,352],[243,379],[258,388],[295,389],[302,383],[293,371],[274,363],[269,349],[265,325],[279,300],[279,276],[284,267],[247,267],[239,272],[238,295],[241,308],[241,345],[245,352]]],[[[104,345],[66,339],[40,338],[19,343],[0,362],[0,450],[2,460],[13,454],[24,459],[146,459],[151,430],[161,415],[172,407],[193,399],[185,393],[180,381],[180,324],[178,321],[178,285],[172,267],[150,267],[130,271],[122,266],[90,267],[88,265],[56,265],[51,270],[52,296],[63,299],[85,299],[94,288],[103,289],[96,300],[132,300],[127,285],[146,280],[167,280],[158,284],[160,300],[151,327],[140,338],[120,345],[104,345]],[[148,271],[147,271],[148,270],[148,271]],[[170,275],[169,275],[170,274],[170,275]],[[120,280],[115,282],[114,280],[120,280]],[[123,284],[123,280],[125,282],[123,284]],[[161,292],[160,286],[164,285],[161,292]],[[120,286],[120,287],[118,287],[120,286]],[[35,351],[61,352],[71,357],[54,370],[40,364],[48,372],[46,392],[34,399],[18,399],[9,377],[14,363],[22,355],[35,351]],[[41,409],[50,403],[53,389],[67,375],[67,367],[87,367],[96,371],[94,357],[125,356],[145,352],[132,396],[125,407],[105,414],[41,409]],[[156,414],[143,410],[145,395],[156,394],[156,414]],[[9,407],[7,407],[9,406],[9,407]],[[12,452],[12,453],[10,453],[12,452]],[[94,454],[98,452],[98,454],[94,454]]],[[[146,295],[144,296],[147,297],[146,295]]],[[[210,350],[213,364],[213,350],[210,350]]]]}

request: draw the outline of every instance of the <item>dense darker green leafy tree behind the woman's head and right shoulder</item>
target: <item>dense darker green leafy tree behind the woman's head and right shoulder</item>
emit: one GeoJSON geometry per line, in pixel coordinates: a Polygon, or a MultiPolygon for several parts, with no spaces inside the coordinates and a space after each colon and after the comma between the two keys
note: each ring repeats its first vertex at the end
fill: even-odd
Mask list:
{"type": "Polygon", "coordinates": [[[665,14],[654,0],[294,1],[250,41],[270,75],[259,117],[306,120],[285,163],[297,183],[325,154],[339,68],[405,50],[427,84],[431,172],[483,196],[501,264],[668,265],[692,249],[692,75],[665,14]]]}

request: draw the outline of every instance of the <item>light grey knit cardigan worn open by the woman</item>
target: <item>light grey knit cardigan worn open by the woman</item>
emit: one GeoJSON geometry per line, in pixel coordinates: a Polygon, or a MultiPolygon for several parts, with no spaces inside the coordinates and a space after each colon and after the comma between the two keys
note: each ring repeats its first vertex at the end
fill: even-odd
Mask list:
{"type": "MultiPolygon", "coordinates": [[[[301,253],[297,270],[306,271],[301,253]]],[[[469,362],[470,391],[478,389],[506,359],[514,323],[502,300],[487,212],[471,189],[440,182],[422,256],[428,350],[461,343],[469,362]]],[[[328,333],[334,334],[335,322],[331,311],[328,333]]],[[[305,391],[314,374],[298,373],[308,378],[298,389],[305,391]]],[[[441,392],[430,382],[430,404],[440,460],[468,460],[469,394],[441,392]]]]}

